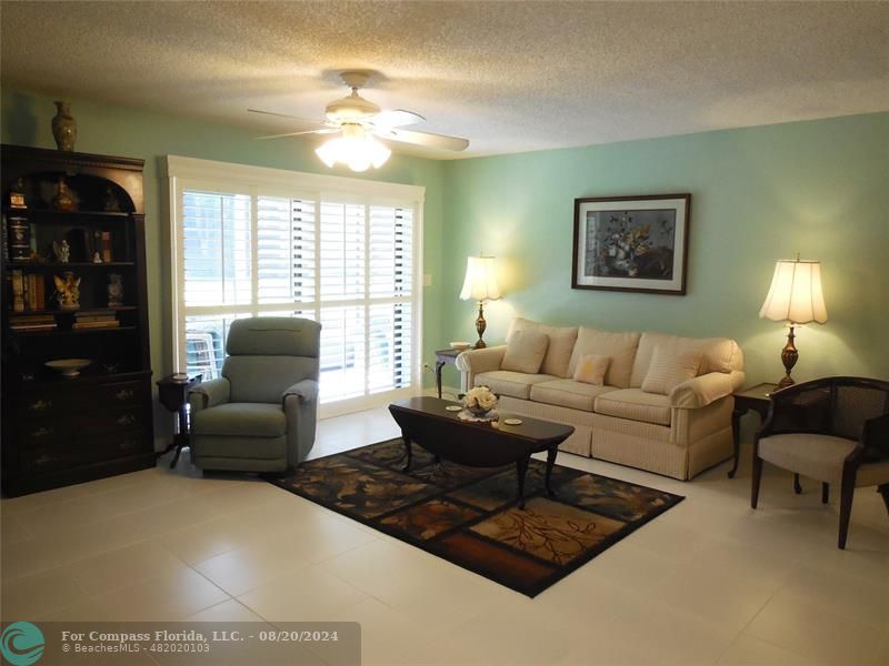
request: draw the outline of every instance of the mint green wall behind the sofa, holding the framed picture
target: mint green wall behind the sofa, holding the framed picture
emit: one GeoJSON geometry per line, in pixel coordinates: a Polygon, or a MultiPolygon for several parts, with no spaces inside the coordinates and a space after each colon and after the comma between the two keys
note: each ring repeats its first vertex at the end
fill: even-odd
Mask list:
{"type": "Polygon", "coordinates": [[[889,379],[889,113],[707,132],[444,165],[447,340],[475,337],[457,300],[466,256],[495,254],[513,315],[617,331],[735,337],[749,382],[778,380],[786,330],[758,319],[775,261],[822,262],[830,320],[802,327],[795,377],[889,379]],[[573,200],[691,192],[688,295],[571,289],[573,200]]]}

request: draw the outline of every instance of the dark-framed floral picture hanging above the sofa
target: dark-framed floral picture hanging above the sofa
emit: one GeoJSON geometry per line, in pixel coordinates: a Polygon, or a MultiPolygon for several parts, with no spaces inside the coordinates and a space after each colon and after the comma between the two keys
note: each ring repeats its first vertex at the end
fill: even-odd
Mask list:
{"type": "Polygon", "coordinates": [[[571,289],[686,294],[691,194],[575,199],[571,289]]]}

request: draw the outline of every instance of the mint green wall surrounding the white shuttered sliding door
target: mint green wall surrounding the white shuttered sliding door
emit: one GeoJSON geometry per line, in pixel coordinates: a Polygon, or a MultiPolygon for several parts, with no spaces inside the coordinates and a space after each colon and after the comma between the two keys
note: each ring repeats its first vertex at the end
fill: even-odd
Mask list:
{"type": "MultiPolygon", "coordinates": [[[[56,148],[50,119],[56,113],[53,98],[31,92],[2,90],[0,139],[3,143],[56,148]]],[[[146,161],[144,195],[148,252],[149,317],[151,324],[151,362],[157,377],[171,370],[169,349],[170,322],[167,314],[169,285],[169,220],[166,213],[166,179],[160,176],[167,154],[238,162],[293,171],[336,173],[426,188],[423,214],[423,272],[431,274],[432,285],[423,290],[426,312],[423,341],[431,355],[441,330],[442,300],[441,248],[443,169],[441,162],[402,155],[392,158],[381,169],[354,174],[344,168],[327,169],[313,153],[313,144],[301,139],[254,141],[256,131],[166,115],[162,113],[109,107],[77,98],[70,99],[78,121],[76,150],[101,154],[141,158],[146,161]]],[[[429,377],[427,376],[427,382],[429,377]]],[[[167,420],[159,425],[166,427],[167,420]]]]}

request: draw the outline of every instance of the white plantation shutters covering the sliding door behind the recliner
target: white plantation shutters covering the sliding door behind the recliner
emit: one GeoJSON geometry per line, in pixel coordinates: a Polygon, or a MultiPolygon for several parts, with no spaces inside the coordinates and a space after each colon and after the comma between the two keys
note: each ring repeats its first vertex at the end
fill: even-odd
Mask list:
{"type": "Polygon", "coordinates": [[[322,325],[322,404],[410,389],[419,377],[413,208],[262,190],[180,190],[174,295],[187,371],[219,376],[236,319],[303,316],[322,325]]]}

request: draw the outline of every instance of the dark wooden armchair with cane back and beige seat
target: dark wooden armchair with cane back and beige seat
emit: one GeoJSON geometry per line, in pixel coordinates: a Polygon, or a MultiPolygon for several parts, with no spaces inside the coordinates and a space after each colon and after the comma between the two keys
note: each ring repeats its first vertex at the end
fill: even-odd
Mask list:
{"type": "Polygon", "coordinates": [[[773,393],[753,443],[753,508],[763,461],[820,481],[823,503],[830,484],[840,484],[837,545],[845,548],[856,487],[876,485],[889,511],[889,382],[826,377],[773,393]]]}

